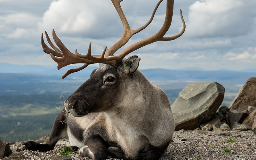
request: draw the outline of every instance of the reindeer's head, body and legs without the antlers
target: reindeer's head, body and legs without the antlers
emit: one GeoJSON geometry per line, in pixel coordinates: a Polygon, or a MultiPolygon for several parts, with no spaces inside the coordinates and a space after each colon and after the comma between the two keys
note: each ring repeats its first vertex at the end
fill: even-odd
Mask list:
{"type": "Polygon", "coordinates": [[[139,60],[132,56],[128,59],[132,65],[123,62],[118,68],[100,64],[64,102],[47,143],[36,147],[29,141],[25,148],[52,149],[67,132],[70,145],[81,147],[80,156],[143,159],[154,151],[157,154],[149,158],[159,159],[172,140],[174,120],[165,93],[137,70],[139,60]],[[115,80],[106,81],[109,77],[115,80]],[[64,119],[66,131],[60,122],[64,119]]]}

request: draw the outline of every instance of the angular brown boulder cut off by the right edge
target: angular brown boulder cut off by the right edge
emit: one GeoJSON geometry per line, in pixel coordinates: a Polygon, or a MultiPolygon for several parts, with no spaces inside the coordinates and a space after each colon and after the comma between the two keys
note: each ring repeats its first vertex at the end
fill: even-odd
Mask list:
{"type": "Polygon", "coordinates": [[[246,110],[248,106],[256,107],[256,77],[247,80],[239,90],[235,99],[229,106],[229,110],[246,110]]]}

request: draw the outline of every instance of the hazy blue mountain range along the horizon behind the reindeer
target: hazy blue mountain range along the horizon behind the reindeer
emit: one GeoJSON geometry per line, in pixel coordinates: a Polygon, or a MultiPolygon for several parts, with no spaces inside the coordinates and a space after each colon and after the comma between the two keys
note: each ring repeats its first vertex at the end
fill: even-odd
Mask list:
{"type": "MultiPolygon", "coordinates": [[[[11,65],[0,63],[0,95],[9,94],[51,94],[72,93],[89,78],[94,66],[72,73],[65,79],[61,76],[72,67],[57,70],[54,66],[11,65]]],[[[256,71],[207,71],[199,68],[192,70],[145,69],[140,70],[150,81],[164,90],[182,89],[192,82],[215,81],[228,90],[236,92],[256,71]]]]}

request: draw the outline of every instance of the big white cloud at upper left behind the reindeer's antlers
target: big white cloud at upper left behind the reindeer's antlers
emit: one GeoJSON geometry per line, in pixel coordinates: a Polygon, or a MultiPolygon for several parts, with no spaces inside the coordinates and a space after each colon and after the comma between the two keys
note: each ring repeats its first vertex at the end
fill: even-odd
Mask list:
{"type": "Polygon", "coordinates": [[[115,28],[117,21],[119,17],[108,1],[58,0],[51,3],[38,27],[39,30],[55,29],[66,35],[97,38],[102,34],[116,35],[116,31],[120,31],[115,28]],[[112,28],[105,28],[109,24],[112,28]]]}

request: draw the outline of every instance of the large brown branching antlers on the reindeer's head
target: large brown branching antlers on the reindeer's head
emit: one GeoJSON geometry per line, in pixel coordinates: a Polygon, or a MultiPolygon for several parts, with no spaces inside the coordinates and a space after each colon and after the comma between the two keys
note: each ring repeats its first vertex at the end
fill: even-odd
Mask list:
{"type": "Polygon", "coordinates": [[[120,49],[122,46],[124,46],[124,44],[126,44],[129,39],[136,33],[142,31],[143,29],[145,29],[146,27],[148,27],[148,25],[152,22],[154,15],[156,13],[156,10],[158,8],[158,6],[161,4],[161,2],[163,0],[160,0],[157,4],[156,7],[151,15],[150,20],[142,27],[132,30],[129,26],[128,21],[125,18],[124,12],[122,10],[121,7],[121,2],[123,0],[111,0],[113,5],[116,8],[117,13],[119,14],[120,19],[122,20],[123,26],[124,26],[124,32],[123,32],[123,36],[121,37],[121,39],[116,42],[113,46],[111,46],[108,50],[107,47],[104,49],[102,55],[91,55],[91,43],[89,45],[89,49],[86,55],[82,55],[79,54],[77,51],[75,51],[76,54],[71,53],[64,44],[62,44],[62,42],[60,41],[60,39],[58,38],[58,36],[56,35],[55,31],[52,30],[52,36],[53,36],[53,40],[55,42],[55,44],[57,44],[57,46],[60,48],[60,50],[54,46],[48,36],[48,34],[45,31],[45,35],[46,35],[46,39],[48,41],[48,43],[50,44],[50,46],[54,49],[52,50],[51,48],[49,48],[45,43],[44,43],[44,39],[43,39],[43,34],[41,36],[41,44],[43,47],[43,51],[47,54],[50,54],[52,59],[54,61],[56,61],[58,63],[58,69],[65,67],[67,65],[70,64],[75,64],[75,63],[85,63],[82,67],[76,68],[76,69],[70,69],[68,70],[63,76],[62,78],[65,78],[66,76],[68,76],[71,73],[77,72],[79,70],[84,69],[85,67],[87,67],[89,64],[93,64],[93,63],[105,63],[105,64],[111,64],[113,66],[117,66],[118,63],[120,61],[123,60],[123,58],[128,55],[129,53],[145,46],[151,43],[154,43],[156,41],[171,41],[174,40],[178,37],[180,37],[186,28],[185,25],[185,21],[183,19],[182,16],[182,12],[180,10],[180,17],[183,23],[183,28],[181,30],[181,32],[175,36],[171,36],[171,37],[164,37],[164,35],[166,34],[166,32],[168,31],[168,29],[171,26],[172,23],[172,15],[173,15],[173,3],[174,0],[167,0],[166,3],[166,15],[165,15],[165,20],[164,20],[164,24],[162,26],[162,28],[160,28],[160,30],[146,38],[143,39],[135,44],[130,45],[129,47],[125,48],[123,51],[121,51],[118,55],[116,56],[112,56],[118,49],[120,49]],[[57,58],[60,57],[60,58],[57,58]]]}

